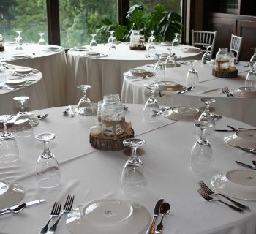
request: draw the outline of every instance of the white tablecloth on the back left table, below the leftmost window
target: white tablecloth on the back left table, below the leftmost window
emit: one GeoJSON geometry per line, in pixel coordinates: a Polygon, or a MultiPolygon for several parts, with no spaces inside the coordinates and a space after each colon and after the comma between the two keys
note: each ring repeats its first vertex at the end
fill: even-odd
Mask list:
{"type": "Polygon", "coordinates": [[[42,72],[48,107],[66,105],[66,55],[63,48],[56,51],[45,51],[37,44],[23,46],[23,53],[31,56],[28,59],[12,59],[16,45],[5,45],[4,59],[10,64],[32,67],[42,72]],[[33,54],[34,53],[34,54],[33,54]]]}

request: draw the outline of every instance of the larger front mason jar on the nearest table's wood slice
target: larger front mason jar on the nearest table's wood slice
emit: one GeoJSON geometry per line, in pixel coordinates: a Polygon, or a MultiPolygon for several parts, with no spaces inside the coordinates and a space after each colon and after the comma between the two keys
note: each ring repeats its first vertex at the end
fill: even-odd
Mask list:
{"type": "Polygon", "coordinates": [[[102,132],[107,137],[113,137],[114,127],[116,127],[116,135],[121,135],[124,132],[120,125],[121,121],[125,121],[124,106],[120,102],[119,94],[110,94],[103,97],[100,116],[102,132]]]}

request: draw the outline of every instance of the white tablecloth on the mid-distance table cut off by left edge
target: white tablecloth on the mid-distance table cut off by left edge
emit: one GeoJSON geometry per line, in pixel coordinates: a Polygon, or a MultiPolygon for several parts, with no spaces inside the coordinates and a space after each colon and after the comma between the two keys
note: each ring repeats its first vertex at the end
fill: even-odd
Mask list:
{"type": "MultiPolygon", "coordinates": [[[[4,80],[18,78],[17,76],[9,75],[11,71],[12,69],[7,69],[5,74],[0,74],[0,84],[4,83],[4,80]],[[4,78],[4,80],[1,80],[1,78],[4,78]]],[[[33,81],[26,84],[26,86],[15,88],[15,90],[0,89],[0,115],[14,115],[18,113],[20,106],[18,102],[13,100],[13,97],[18,96],[29,96],[30,99],[25,104],[27,110],[38,110],[48,107],[45,84],[42,82],[42,73],[29,75],[24,79],[32,79],[33,81]]]]}

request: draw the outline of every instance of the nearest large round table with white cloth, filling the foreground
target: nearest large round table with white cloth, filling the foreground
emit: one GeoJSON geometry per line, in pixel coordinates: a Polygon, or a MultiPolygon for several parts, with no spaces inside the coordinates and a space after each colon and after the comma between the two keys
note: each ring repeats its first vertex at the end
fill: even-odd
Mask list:
{"type": "MultiPolygon", "coordinates": [[[[68,194],[75,195],[72,214],[78,212],[77,207],[80,204],[109,199],[136,203],[137,207],[142,205],[147,209],[148,214],[153,214],[157,200],[163,198],[170,203],[170,214],[165,216],[163,223],[164,233],[252,234],[256,232],[255,200],[233,198],[249,206],[249,210],[238,212],[221,203],[207,202],[197,192],[198,181],[203,180],[215,190],[211,186],[211,179],[215,175],[230,170],[241,170],[243,167],[237,165],[235,160],[250,164],[252,159],[255,159],[254,154],[225,143],[224,137],[234,135],[235,132],[215,132],[214,136],[208,138],[213,150],[213,168],[206,173],[195,173],[189,166],[190,151],[198,138],[192,121],[174,121],[160,116],[157,122],[149,123],[143,120],[143,105],[127,105],[127,107],[126,121],[132,123],[135,137],[146,141],[146,144],[138,149],[138,156],[143,162],[147,178],[146,192],[131,196],[124,194],[121,189],[121,173],[129,158],[129,150],[100,151],[90,145],[90,127],[95,124],[96,117],[91,118],[91,121],[78,121],[77,116],[70,118],[69,115],[64,115],[64,107],[38,110],[35,113],[48,113],[48,117],[39,121],[34,127],[34,135],[42,132],[56,134],[56,139],[50,141],[49,147],[59,161],[61,183],[51,189],[42,189],[35,184],[34,170],[38,156],[42,154],[43,144],[34,137],[16,137],[20,159],[12,163],[0,163],[0,178],[5,181],[15,181],[23,186],[25,194],[20,203],[38,199],[46,199],[46,201],[31,205],[19,214],[1,215],[1,233],[39,233],[48,221],[53,203],[61,201],[63,208],[68,194]]],[[[226,117],[216,121],[218,129],[227,128],[227,124],[235,128],[252,128],[248,124],[226,117]]],[[[249,169],[246,169],[246,172],[255,173],[254,170],[249,169]]],[[[256,184],[252,185],[254,191],[255,186],[256,184]]],[[[244,192],[246,195],[246,189],[244,192]]],[[[3,204],[2,196],[0,200],[3,204]]],[[[88,218],[86,214],[78,216],[81,219],[88,218]]],[[[70,232],[66,217],[66,214],[62,216],[56,233],[91,233],[86,227],[80,233],[75,233],[74,229],[70,232]]],[[[149,221],[148,216],[148,224],[149,221]]],[[[72,222],[73,227],[83,224],[83,221],[76,219],[69,219],[69,222],[72,222]]],[[[130,219],[127,222],[130,222],[130,219]]],[[[49,227],[52,224],[53,221],[50,222],[49,227]]],[[[116,223],[104,226],[105,224],[96,222],[90,224],[90,228],[98,225],[105,227],[102,233],[115,233],[115,225],[118,226],[116,223]]],[[[132,223],[126,226],[128,229],[129,227],[132,227],[132,223]]],[[[129,233],[127,229],[123,231],[129,233]]]]}

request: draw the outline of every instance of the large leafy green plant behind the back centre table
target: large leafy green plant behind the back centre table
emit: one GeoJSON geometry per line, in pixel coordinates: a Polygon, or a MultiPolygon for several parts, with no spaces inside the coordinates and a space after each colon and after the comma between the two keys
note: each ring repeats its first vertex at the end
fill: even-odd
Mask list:
{"type": "Polygon", "coordinates": [[[140,30],[146,39],[150,36],[150,31],[154,30],[154,37],[158,42],[173,41],[174,33],[180,33],[183,25],[181,16],[176,12],[167,12],[162,4],[156,4],[152,12],[146,12],[143,5],[134,5],[127,12],[127,26],[121,26],[118,23],[111,23],[104,19],[105,25],[97,30],[100,34],[106,34],[108,31],[115,31],[116,39],[129,41],[132,30],[140,30]]]}

